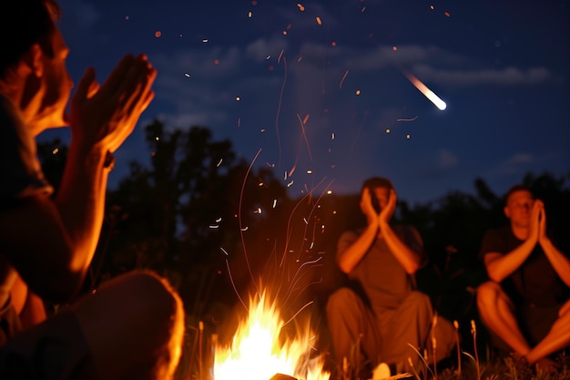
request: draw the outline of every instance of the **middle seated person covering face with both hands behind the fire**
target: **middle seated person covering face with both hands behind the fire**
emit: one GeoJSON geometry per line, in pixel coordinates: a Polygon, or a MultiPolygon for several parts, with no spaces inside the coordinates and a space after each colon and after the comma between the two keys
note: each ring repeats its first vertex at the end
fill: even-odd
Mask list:
{"type": "MultiPolygon", "coordinates": [[[[415,364],[421,360],[412,347],[422,352],[431,344],[432,304],[416,290],[414,278],[427,255],[413,226],[390,223],[396,200],[390,180],[365,180],[360,208],[366,226],[343,232],[338,242],[337,264],[349,285],[329,297],[327,320],[337,364],[348,360],[363,369],[361,375],[382,363],[392,372],[410,371],[409,358],[415,364]]],[[[433,333],[441,360],[453,349],[453,326],[439,318],[433,333]]]]}

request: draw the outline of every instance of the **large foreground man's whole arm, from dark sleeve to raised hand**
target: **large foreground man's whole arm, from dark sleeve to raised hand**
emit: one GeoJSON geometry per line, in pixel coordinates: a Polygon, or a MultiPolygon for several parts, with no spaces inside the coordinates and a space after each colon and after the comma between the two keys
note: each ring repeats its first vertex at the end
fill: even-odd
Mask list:
{"type": "Polygon", "coordinates": [[[78,292],[103,221],[107,152],[148,107],[155,77],[144,56],[123,58],[100,88],[88,69],[71,103],[72,141],[56,201],[32,194],[2,212],[0,228],[10,231],[2,252],[41,297],[67,301],[78,292]]]}

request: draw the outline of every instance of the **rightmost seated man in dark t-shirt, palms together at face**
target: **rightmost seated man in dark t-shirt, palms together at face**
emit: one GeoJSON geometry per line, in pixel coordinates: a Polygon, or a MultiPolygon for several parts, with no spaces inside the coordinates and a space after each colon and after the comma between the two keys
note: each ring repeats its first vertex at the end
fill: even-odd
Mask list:
{"type": "Polygon", "coordinates": [[[509,225],[487,231],[480,258],[490,281],[477,306],[492,344],[537,370],[555,370],[555,354],[570,346],[570,259],[546,233],[542,200],[523,185],[505,196],[509,225]]]}

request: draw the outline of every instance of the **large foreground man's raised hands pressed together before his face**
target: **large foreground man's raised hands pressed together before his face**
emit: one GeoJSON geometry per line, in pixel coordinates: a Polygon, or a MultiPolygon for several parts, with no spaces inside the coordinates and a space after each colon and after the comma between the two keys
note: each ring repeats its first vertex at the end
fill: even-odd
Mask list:
{"type": "Polygon", "coordinates": [[[130,135],[140,114],[154,98],[157,71],[147,56],[127,55],[99,86],[87,68],[71,100],[70,127],[80,146],[114,152],[130,135]]]}

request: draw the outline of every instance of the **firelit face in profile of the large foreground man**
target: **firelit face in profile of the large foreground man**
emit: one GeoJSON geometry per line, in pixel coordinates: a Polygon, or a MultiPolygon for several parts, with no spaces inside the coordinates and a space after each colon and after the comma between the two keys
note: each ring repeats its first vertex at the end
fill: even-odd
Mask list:
{"type": "Polygon", "coordinates": [[[39,108],[35,117],[30,120],[35,135],[47,128],[58,128],[66,125],[66,105],[69,100],[73,81],[66,69],[69,48],[63,36],[56,28],[49,36],[53,56],[42,52],[41,72],[36,97],[39,108]]]}

